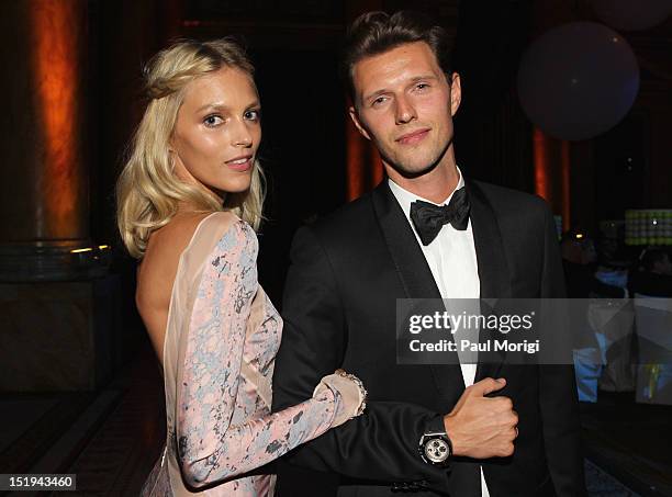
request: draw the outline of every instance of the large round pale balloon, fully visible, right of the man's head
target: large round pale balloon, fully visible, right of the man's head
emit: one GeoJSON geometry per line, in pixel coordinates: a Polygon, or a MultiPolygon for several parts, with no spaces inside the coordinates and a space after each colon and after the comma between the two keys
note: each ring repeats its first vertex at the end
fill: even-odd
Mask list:
{"type": "Polygon", "coordinates": [[[597,136],[626,115],[639,91],[639,66],[628,43],[593,22],[574,22],[533,42],[520,60],[523,110],[561,139],[597,136]]]}

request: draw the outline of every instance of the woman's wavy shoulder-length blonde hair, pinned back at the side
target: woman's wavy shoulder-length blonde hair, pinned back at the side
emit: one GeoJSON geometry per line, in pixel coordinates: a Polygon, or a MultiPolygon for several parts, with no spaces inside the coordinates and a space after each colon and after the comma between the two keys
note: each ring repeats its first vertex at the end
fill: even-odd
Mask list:
{"type": "Polygon", "coordinates": [[[149,235],[168,224],[181,203],[198,211],[228,210],[258,229],[262,218],[264,172],[256,160],[247,191],[224,202],[206,189],[187,184],[172,172],[168,143],[184,87],[222,67],[254,75],[243,48],[231,38],[182,41],[159,52],[145,67],[150,99],[131,143],[128,159],[116,183],[116,224],[131,256],[142,258],[149,235]]]}

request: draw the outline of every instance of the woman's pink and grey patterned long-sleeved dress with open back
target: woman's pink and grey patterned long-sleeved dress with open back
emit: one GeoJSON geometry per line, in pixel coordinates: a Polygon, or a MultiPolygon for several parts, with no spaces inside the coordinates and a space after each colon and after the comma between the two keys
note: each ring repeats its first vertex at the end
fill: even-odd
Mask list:
{"type": "Polygon", "coordinates": [[[272,496],[275,475],[245,473],[318,437],[351,403],[321,388],[270,413],[282,319],[257,282],[257,251],[249,225],[214,213],[180,257],[164,344],[168,437],[144,496],[272,496]]]}

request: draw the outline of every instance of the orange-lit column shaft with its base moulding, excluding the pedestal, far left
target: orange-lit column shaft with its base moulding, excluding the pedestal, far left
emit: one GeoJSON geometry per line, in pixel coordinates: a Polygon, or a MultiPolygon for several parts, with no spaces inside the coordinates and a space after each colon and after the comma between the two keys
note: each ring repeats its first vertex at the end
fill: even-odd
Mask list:
{"type": "Polygon", "coordinates": [[[0,281],[56,281],[90,250],[87,0],[0,5],[0,281]]]}

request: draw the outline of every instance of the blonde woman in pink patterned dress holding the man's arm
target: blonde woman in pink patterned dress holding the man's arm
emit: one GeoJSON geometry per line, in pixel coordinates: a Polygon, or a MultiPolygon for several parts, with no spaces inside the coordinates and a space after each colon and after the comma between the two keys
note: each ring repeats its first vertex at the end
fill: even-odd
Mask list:
{"type": "Polygon", "coordinates": [[[244,52],[231,39],[177,43],[146,79],[117,184],[166,392],[166,449],[143,495],[272,495],[272,475],[245,473],[361,414],[366,392],[339,371],[270,413],[282,320],[257,282],[260,103],[244,52]]]}

